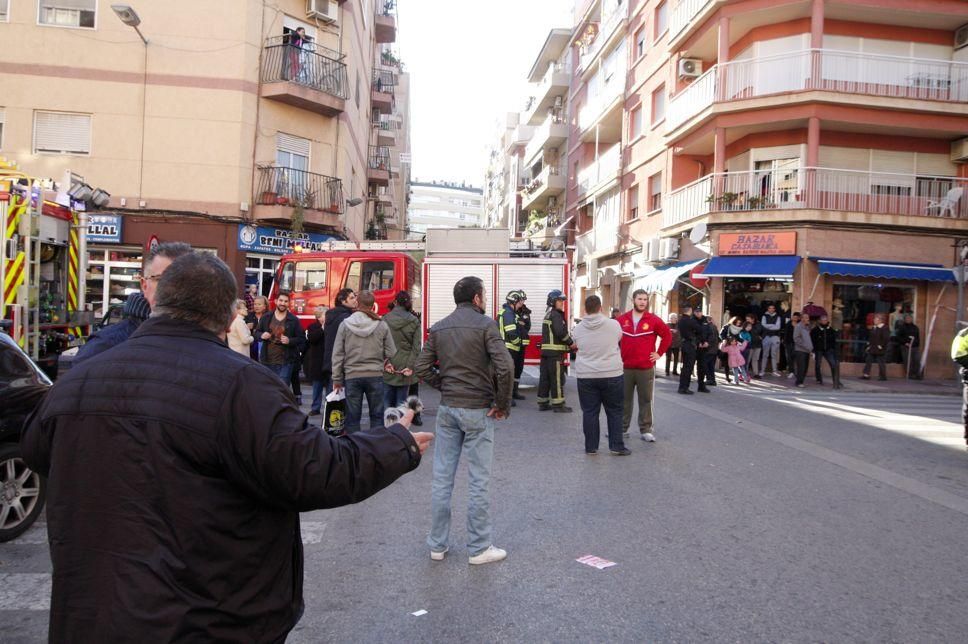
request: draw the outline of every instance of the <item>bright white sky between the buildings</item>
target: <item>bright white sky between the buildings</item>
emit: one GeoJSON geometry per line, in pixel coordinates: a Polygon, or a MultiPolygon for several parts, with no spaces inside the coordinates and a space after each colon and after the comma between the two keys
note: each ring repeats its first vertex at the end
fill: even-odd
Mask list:
{"type": "Polygon", "coordinates": [[[497,119],[524,107],[548,31],[574,0],[402,0],[397,46],[411,74],[412,176],[480,187],[497,119]]]}

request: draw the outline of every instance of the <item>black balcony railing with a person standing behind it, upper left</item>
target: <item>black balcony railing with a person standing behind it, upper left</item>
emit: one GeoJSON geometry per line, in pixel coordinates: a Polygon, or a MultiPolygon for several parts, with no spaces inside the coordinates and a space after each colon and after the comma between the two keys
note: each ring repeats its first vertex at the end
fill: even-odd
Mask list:
{"type": "Polygon", "coordinates": [[[315,51],[288,44],[270,44],[262,58],[262,82],[289,82],[349,98],[346,65],[315,51]]]}

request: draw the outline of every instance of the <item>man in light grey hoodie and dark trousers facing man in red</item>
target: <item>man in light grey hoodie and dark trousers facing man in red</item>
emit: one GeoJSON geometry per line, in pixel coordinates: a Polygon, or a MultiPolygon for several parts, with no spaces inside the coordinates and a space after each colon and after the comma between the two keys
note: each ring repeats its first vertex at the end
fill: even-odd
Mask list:
{"type": "MultiPolygon", "coordinates": [[[[636,299],[634,294],[632,299],[633,302],[636,299]]],[[[622,373],[623,370],[626,374],[629,371],[638,370],[627,369],[622,364],[623,358],[618,346],[621,341],[623,352],[625,351],[622,331],[624,322],[621,321],[624,318],[625,316],[621,316],[619,321],[606,318],[602,314],[602,300],[597,295],[590,295],[585,298],[585,317],[572,331],[572,338],[578,347],[575,377],[578,379],[578,403],[582,411],[586,454],[598,453],[598,444],[601,441],[598,417],[603,406],[608,424],[608,449],[618,456],[632,453],[625,447],[622,437],[622,382],[624,379],[622,373]]],[[[634,348],[630,348],[629,351],[634,351],[634,348]]],[[[640,387],[640,400],[641,392],[640,387]]],[[[630,397],[630,394],[625,394],[626,409],[630,406],[630,397]]],[[[651,408],[651,396],[648,404],[651,408]]],[[[631,411],[627,414],[627,417],[630,416],[631,411]]],[[[639,416],[641,418],[641,414],[639,416]]],[[[651,423],[651,413],[649,421],[651,423]]]]}

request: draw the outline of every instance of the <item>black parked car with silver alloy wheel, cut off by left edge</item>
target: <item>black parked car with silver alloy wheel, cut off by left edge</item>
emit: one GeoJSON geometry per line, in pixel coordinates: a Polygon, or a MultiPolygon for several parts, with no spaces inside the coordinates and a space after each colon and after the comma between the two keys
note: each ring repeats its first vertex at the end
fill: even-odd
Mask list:
{"type": "MultiPolygon", "coordinates": [[[[4,321],[6,322],[6,321],[4,321]]],[[[24,533],[44,511],[47,481],[20,456],[20,434],[51,381],[0,325],[0,542],[24,533]]]]}

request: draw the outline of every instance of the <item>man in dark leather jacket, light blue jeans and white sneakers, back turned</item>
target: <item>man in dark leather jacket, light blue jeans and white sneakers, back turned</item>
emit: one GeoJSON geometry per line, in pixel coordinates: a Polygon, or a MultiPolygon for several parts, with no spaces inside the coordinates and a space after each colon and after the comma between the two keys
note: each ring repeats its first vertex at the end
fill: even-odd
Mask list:
{"type": "Polygon", "coordinates": [[[461,452],[467,455],[468,563],[501,561],[507,552],[491,539],[491,462],[494,421],[508,417],[514,386],[514,362],[494,320],[484,315],[484,282],[465,277],[454,285],[457,309],[430,329],[414,371],[440,390],[434,478],[430,558],[442,561],[449,549],[450,499],[461,452]]]}

